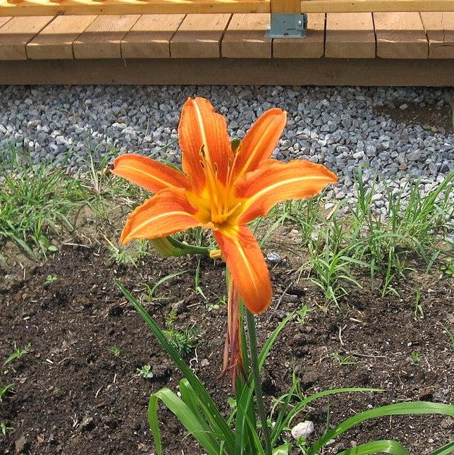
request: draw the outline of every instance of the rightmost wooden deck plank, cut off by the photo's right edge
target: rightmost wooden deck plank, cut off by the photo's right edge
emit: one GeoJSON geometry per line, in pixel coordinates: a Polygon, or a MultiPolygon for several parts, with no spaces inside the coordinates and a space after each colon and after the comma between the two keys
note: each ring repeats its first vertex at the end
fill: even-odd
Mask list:
{"type": "Polygon", "coordinates": [[[454,12],[421,13],[429,59],[454,59],[454,12]]]}

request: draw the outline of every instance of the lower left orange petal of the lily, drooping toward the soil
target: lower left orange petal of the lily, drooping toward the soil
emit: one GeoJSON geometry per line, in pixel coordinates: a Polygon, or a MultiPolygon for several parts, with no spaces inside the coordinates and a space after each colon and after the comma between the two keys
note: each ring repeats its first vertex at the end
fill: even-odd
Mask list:
{"type": "Polygon", "coordinates": [[[162,190],[131,213],[121,233],[121,243],[133,238],[158,238],[178,231],[200,226],[194,217],[197,209],[192,207],[185,190],[168,188],[162,190]]]}

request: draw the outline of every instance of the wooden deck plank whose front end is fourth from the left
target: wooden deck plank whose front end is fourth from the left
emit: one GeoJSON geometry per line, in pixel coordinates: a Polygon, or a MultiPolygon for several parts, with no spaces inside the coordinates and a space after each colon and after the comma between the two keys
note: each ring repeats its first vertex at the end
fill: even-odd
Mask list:
{"type": "Polygon", "coordinates": [[[144,14],[121,41],[124,59],[165,59],[184,14],[144,14]]]}

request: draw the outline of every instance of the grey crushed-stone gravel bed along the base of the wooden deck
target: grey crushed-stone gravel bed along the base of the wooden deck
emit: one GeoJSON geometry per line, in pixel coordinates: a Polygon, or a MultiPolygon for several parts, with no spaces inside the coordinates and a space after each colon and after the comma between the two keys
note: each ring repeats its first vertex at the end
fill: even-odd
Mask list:
{"type": "MultiPolygon", "coordinates": [[[[30,150],[35,162],[50,160],[75,172],[115,149],[178,164],[180,109],[189,96],[207,97],[227,116],[231,135],[242,137],[270,107],[288,111],[275,157],[323,163],[340,177],[328,196],[355,200],[353,178],[368,164],[391,188],[421,178],[434,188],[453,169],[452,92],[429,88],[76,86],[1,87],[1,150],[30,150]],[[161,149],[161,150],[160,150],[161,149]]],[[[7,159],[7,152],[3,152],[7,159]]],[[[377,188],[374,202],[385,209],[377,188]]]]}

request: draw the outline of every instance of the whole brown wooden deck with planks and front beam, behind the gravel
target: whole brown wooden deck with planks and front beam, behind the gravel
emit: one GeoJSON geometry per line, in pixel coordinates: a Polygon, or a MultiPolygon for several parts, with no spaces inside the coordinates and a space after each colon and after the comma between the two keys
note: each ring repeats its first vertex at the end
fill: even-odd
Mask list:
{"type": "Polygon", "coordinates": [[[454,85],[454,12],[0,17],[0,84],[454,85]]]}

